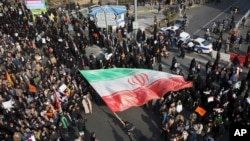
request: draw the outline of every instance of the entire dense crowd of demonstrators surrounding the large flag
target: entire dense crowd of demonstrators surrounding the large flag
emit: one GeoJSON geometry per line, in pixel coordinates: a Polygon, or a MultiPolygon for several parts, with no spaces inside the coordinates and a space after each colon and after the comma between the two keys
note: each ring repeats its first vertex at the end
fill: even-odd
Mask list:
{"type": "MultiPolygon", "coordinates": [[[[157,65],[162,71],[161,60],[174,45],[171,35],[162,39],[155,33],[147,38],[144,31],[138,30],[134,36],[128,26],[117,28],[107,37],[89,18],[81,13],[70,17],[62,8],[33,17],[21,3],[5,1],[2,10],[0,138],[4,141],[82,140],[86,133],[85,114],[94,112],[89,99],[97,104],[102,100],[78,70],[154,69],[157,65]],[[93,44],[112,55],[87,55],[86,48],[93,44]]],[[[220,68],[219,60],[209,62],[205,80],[196,75],[199,69],[200,64],[193,59],[189,75],[184,76],[181,71],[178,74],[193,81],[194,87],[170,92],[154,104],[166,140],[219,140],[229,123],[249,124],[246,89],[250,74],[239,88],[233,87],[241,73],[237,58],[229,68],[220,68]],[[219,90],[213,82],[219,82],[219,90]],[[206,114],[194,112],[197,107],[204,108],[206,114]],[[192,112],[189,118],[182,115],[184,109],[192,112]]],[[[96,140],[93,132],[91,141],[96,140]]]]}

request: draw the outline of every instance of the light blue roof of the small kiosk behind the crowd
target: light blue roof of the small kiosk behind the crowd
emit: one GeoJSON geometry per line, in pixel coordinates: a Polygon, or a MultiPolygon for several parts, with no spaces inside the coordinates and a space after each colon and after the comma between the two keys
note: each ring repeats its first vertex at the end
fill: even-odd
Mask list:
{"type": "Polygon", "coordinates": [[[117,15],[126,13],[126,6],[116,6],[116,5],[103,5],[103,6],[93,6],[90,8],[88,15],[94,16],[96,13],[103,13],[105,10],[106,13],[115,13],[117,15]]]}

